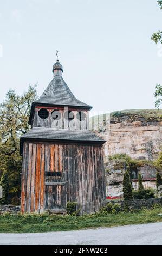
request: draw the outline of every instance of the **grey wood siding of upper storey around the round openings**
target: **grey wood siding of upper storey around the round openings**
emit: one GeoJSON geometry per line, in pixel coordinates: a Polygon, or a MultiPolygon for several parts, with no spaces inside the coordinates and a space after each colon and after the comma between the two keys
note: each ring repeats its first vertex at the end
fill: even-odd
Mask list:
{"type": "Polygon", "coordinates": [[[89,129],[89,112],[88,111],[82,111],[86,118],[82,121],[80,121],[76,115],[79,111],[72,110],[74,114],[74,119],[71,121],[68,121],[66,118],[64,118],[64,109],[58,109],[60,119],[53,120],[52,113],[56,109],[50,109],[47,108],[47,111],[49,112],[49,116],[46,119],[42,119],[38,115],[38,111],[40,111],[41,108],[35,108],[34,113],[34,119],[32,127],[53,127],[56,129],[69,129],[69,130],[88,130],[89,129]]]}

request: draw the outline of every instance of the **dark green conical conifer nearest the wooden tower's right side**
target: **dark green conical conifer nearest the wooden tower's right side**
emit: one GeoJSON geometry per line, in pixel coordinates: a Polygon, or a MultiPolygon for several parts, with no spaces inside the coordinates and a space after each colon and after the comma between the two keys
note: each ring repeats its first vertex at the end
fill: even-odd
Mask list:
{"type": "Polygon", "coordinates": [[[124,179],[123,179],[123,197],[124,200],[131,200],[133,199],[133,192],[132,192],[132,185],[131,179],[128,172],[125,172],[124,179]]]}

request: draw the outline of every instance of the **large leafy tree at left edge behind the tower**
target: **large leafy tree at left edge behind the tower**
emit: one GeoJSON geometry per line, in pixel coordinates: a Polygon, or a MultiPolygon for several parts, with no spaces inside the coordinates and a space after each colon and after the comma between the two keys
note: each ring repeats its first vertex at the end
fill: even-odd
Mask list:
{"type": "Polygon", "coordinates": [[[0,104],[0,178],[6,191],[0,203],[18,203],[22,166],[20,136],[29,130],[30,107],[35,100],[36,86],[29,86],[21,96],[10,89],[0,104]]]}

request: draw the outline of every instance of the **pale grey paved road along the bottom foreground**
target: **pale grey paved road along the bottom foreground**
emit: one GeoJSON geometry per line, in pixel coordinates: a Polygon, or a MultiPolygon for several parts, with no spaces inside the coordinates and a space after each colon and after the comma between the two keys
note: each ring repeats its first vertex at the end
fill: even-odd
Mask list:
{"type": "Polygon", "coordinates": [[[0,233],[0,245],[162,245],[162,222],[49,233],[0,233]]]}

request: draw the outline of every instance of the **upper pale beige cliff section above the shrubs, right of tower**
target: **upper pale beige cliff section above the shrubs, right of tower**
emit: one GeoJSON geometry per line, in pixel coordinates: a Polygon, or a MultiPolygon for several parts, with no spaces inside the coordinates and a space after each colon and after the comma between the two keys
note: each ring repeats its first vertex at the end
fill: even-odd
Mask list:
{"type": "Polygon", "coordinates": [[[113,112],[110,124],[105,123],[105,127],[99,123],[99,130],[96,131],[107,141],[104,145],[105,157],[125,153],[133,159],[153,160],[157,156],[162,141],[161,110],[113,112]]]}

